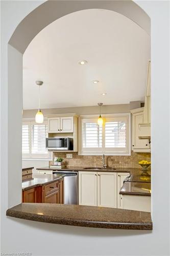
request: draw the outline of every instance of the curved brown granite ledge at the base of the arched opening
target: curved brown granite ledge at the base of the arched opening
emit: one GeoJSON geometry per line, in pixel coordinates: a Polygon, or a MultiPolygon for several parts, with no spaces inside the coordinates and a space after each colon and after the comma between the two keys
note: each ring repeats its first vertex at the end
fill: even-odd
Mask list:
{"type": "Polygon", "coordinates": [[[21,203],[7,216],[62,225],[152,230],[150,212],[84,205],[21,203]]]}

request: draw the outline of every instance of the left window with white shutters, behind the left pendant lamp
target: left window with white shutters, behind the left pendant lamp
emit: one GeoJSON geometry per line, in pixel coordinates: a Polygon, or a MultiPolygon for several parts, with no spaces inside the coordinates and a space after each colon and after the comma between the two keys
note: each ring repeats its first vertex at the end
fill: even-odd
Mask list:
{"type": "Polygon", "coordinates": [[[45,148],[47,123],[22,122],[22,158],[50,158],[45,148]]]}

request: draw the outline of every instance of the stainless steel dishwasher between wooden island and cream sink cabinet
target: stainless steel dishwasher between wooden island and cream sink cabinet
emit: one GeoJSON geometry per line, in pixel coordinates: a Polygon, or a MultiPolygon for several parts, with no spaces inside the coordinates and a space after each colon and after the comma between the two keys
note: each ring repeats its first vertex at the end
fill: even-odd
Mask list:
{"type": "Polygon", "coordinates": [[[78,204],[78,172],[53,170],[53,174],[64,176],[64,204],[78,204]]]}

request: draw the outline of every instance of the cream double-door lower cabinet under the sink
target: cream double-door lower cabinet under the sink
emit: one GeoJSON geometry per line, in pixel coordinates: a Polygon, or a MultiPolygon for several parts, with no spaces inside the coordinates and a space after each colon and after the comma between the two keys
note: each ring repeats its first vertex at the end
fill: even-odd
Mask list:
{"type": "Polygon", "coordinates": [[[117,207],[117,174],[79,172],[79,204],[117,207]]]}

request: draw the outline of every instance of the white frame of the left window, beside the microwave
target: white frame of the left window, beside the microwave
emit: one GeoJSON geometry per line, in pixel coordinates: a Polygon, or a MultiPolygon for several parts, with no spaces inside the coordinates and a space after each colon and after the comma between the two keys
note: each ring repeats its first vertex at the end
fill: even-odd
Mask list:
{"type": "MultiPolygon", "coordinates": [[[[34,118],[23,118],[22,119],[22,125],[29,125],[29,136],[30,136],[30,142],[29,142],[29,150],[32,148],[32,125],[36,124],[38,125],[38,123],[35,122],[34,118]]],[[[47,125],[47,119],[44,118],[43,123],[42,124],[46,124],[47,125]]],[[[47,152],[47,154],[43,154],[43,153],[39,153],[39,154],[33,154],[33,153],[26,153],[26,154],[22,154],[22,161],[51,161],[53,160],[53,155],[52,152],[47,152]]]]}

